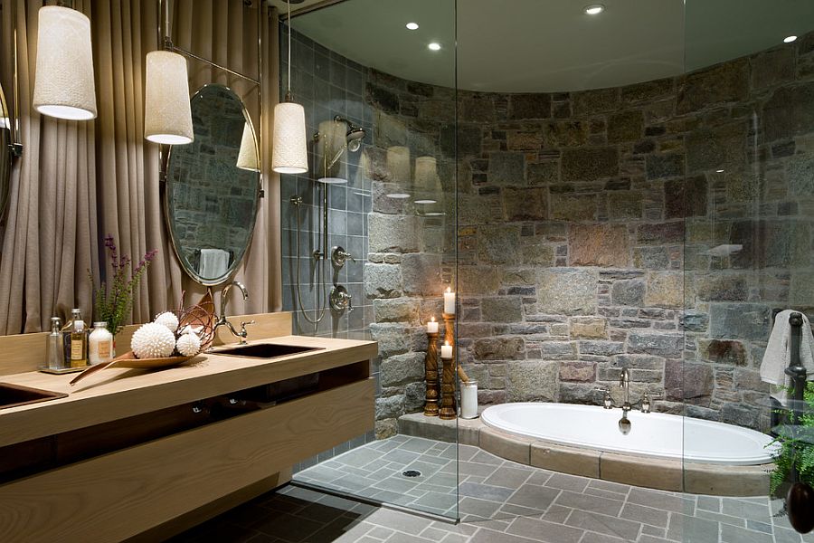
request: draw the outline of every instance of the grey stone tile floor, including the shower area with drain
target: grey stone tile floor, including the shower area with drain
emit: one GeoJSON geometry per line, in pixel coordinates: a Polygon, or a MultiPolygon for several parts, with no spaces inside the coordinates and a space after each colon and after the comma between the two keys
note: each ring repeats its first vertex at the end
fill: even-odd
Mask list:
{"type": "Polygon", "coordinates": [[[368,443],[296,479],[434,513],[454,514],[459,495],[461,523],[289,485],[185,532],[174,543],[814,542],[814,535],[801,538],[787,519],[773,517],[779,502],[767,498],[651,491],[413,437],[368,443]],[[460,484],[455,485],[458,454],[460,484]],[[407,479],[404,469],[421,469],[422,475],[407,479]]]}

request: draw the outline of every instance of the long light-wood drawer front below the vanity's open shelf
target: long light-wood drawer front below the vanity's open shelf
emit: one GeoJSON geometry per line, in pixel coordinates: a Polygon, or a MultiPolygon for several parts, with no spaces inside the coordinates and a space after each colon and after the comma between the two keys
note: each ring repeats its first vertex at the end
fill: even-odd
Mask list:
{"type": "Polygon", "coordinates": [[[0,486],[0,541],[120,541],[374,427],[374,380],[0,486]]]}

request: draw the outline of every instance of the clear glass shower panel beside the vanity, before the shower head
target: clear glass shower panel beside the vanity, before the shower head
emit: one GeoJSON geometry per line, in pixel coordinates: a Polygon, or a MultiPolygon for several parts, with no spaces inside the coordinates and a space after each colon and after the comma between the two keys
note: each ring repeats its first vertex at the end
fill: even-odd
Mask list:
{"type": "Polygon", "coordinates": [[[379,343],[374,431],[303,462],[294,481],[449,519],[458,518],[457,414],[424,411],[428,382],[430,396],[451,399],[458,381],[451,367],[443,380],[440,358],[442,293],[458,290],[455,9],[454,0],[348,0],[292,17],[291,87],[313,135],[311,171],[281,179],[284,310],[295,333],[379,343]],[[352,311],[330,305],[340,288],[352,311]],[[433,319],[439,334],[429,333],[433,319]]]}

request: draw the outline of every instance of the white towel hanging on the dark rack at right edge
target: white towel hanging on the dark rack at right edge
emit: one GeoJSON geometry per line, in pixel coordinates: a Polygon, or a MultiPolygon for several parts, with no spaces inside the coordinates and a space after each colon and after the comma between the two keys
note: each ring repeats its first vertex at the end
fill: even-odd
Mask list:
{"type": "MultiPolygon", "coordinates": [[[[769,343],[761,363],[761,379],[773,385],[771,396],[785,404],[786,389],[791,386],[791,378],[785,374],[791,362],[791,325],[789,316],[793,310],[784,310],[774,318],[769,343]]],[[[800,311],[798,311],[800,312],[800,311]]],[[[814,336],[811,334],[809,319],[802,313],[802,334],[800,338],[800,364],[809,372],[809,381],[814,379],[814,336]]]]}

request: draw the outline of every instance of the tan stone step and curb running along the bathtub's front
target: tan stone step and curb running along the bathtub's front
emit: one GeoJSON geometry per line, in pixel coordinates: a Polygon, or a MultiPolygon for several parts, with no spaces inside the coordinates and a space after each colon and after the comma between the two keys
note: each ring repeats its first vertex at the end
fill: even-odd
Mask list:
{"type": "Polygon", "coordinates": [[[451,421],[422,413],[399,417],[399,433],[475,445],[506,460],[662,491],[716,496],[766,496],[772,464],[725,466],[602,452],[503,433],[479,418],[451,421]]]}

